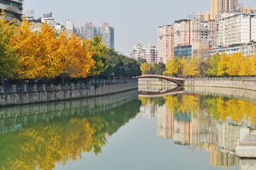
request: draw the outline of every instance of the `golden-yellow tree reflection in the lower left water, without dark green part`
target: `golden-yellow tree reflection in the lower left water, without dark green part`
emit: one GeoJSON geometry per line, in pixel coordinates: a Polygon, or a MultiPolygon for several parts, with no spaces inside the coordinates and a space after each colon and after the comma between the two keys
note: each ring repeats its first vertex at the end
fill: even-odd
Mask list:
{"type": "Polygon", "coordinates": [[[1,169],[53,169],[56,162],[81,158],[82,152],[98,154],[107,142],[104,127],[100,118],[71,118],[1,135],[1,169]]]}

